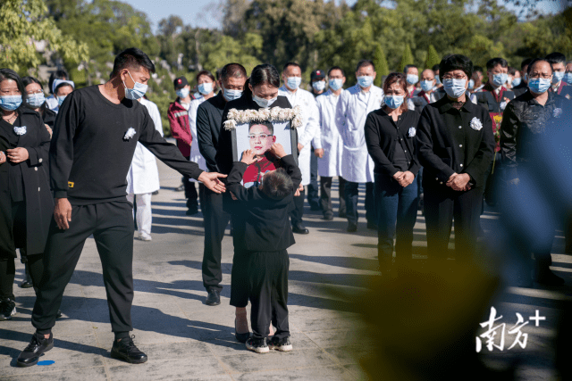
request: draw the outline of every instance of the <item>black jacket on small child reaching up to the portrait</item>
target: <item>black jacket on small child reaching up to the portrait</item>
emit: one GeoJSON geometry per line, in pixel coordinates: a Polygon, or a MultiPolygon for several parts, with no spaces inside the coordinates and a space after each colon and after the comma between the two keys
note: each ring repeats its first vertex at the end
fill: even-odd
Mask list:
{"type": "Polygon", "coordinates": [[[291,154],[282,157],[280,162],[293,183],[290,195],[280,200],[269,197],[257,186],[245,188],[240,185],[248,167],[243,162],[234,162],[227,178],[228,191],[243,204],[244,249],[248,252],[278,252],[295,244],[289,211],[294,205],[293,195],[302,181],[302,173],[291,154]]]}

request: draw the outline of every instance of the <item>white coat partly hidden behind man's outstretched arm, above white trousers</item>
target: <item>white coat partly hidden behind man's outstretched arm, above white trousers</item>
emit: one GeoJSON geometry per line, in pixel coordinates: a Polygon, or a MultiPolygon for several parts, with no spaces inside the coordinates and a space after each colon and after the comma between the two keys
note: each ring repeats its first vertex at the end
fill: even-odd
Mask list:
{"type": "MultiPolygon", "coordinates": [[[[163,137],[163,124],[157,105],[145,98],[141,99],[141,104],[147,107],[151,120],[155,123],[155,129],[163,137]]],[[[155,192],[159,187],[159,170],[155,155],[138,142],[127,172],[127,193],[144,195],[155,192]]]]}

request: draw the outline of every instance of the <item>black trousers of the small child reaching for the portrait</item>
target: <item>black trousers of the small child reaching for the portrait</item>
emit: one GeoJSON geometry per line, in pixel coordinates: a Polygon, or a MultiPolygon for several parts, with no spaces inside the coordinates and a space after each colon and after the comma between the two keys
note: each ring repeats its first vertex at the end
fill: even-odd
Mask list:
{"type": "Polygon", "coordinates": [[[290,336],[288,324],[288,252],[248,253],[249,299],[252,305],[250,325],[255,339],[270,333],[270,322],[276,337],[290,336]]]}

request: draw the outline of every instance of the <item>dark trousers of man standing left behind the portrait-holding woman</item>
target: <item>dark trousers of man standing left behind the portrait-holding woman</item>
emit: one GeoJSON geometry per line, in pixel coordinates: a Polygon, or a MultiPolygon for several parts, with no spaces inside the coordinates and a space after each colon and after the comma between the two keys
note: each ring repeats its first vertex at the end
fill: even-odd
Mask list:
{"type": "Polygon", "coordinates": [[[205,216],[205,250],[203,252],[203,286],[206,290],[222,290],[223,281],[221,258],[224,230],[231,221],[231,213],[224,210],[224,198],[208,188],[204,192],[205,203],[202,205],[205,216]]]}

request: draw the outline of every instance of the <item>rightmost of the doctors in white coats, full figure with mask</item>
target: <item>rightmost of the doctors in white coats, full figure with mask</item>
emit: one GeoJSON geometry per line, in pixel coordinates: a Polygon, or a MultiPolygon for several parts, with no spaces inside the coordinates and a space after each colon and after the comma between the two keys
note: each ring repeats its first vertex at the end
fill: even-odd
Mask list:
{"type": "Polygon", "coordinates": [[[383,104],[383,90],[374,86],[375,65],[370,60],[357,62],[357,85],[340,95],[336,108],[336,125],[343,148],[341,177],[346,182],[346,216],[348,231],[357,230],[357,195],[360,183],[366,183],[367,228],[377,229],[374,205],[374,162],[367,153],[364,128],[369,112],[383,104]]]}

